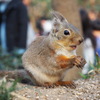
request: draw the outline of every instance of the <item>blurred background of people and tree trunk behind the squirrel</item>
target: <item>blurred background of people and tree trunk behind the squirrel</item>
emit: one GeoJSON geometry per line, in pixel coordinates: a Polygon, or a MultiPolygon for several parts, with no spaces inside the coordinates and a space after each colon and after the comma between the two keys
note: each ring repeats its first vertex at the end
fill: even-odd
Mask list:
{"type": "Polygon", "coordinates": [[[21,56],[38,36],[52,28],[55,10],[80,30],[84,43],[78,48],[87,64],[83,74],[100,56],[100,0],[0,0],[0,70],[22,69],[21,56]]]}

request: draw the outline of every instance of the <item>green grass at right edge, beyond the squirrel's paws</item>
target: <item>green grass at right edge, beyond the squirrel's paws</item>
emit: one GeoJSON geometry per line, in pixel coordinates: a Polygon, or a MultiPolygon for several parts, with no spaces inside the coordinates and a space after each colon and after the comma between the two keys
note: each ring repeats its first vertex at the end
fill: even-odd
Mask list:
{"type": "Polygon", "coordinates": [[[93,65],[90,63],[89,69],[90,70],[87,74],[80,73],[80,75],[83,79],[88,79],[90,77],[94,77],[94,75],[100,73],[100,57],[98,56],[98,54],[96,54],[96,64],[93,65]]]}

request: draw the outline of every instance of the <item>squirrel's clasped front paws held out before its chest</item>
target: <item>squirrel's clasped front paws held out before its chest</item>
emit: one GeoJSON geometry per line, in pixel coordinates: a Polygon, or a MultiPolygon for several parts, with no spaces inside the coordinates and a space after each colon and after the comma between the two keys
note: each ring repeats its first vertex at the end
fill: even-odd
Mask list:
{"type": "Polygon", "coordinates": [[[75,63],[74,65],[78,68],[82,68],[86,64],[86,60],[82,58],[81,56],[75,57],[75,63]]]}

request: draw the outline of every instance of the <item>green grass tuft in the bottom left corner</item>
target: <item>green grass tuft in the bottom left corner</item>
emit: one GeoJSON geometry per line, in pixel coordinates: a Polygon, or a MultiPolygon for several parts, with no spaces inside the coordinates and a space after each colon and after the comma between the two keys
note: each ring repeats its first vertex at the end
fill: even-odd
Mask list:
{"type": "Polygon", "coordinates": [[[2,81],[0,85],[0,100],[11,100],[10,93],[16,89],[17,80],[8,88],[7,82],[2,81]]]}

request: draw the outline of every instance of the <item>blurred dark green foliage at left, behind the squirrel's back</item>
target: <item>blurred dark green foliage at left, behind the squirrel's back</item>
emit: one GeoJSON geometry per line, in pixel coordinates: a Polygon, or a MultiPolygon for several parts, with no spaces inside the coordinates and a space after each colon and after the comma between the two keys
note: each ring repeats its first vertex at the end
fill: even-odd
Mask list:
{"type": "Polygon", "coordinates": [[[0,70],[13,70],[22,66],[21,54],[18,54],[16,50],[12,53],[3,53],[0,49],[0,70]]]}

